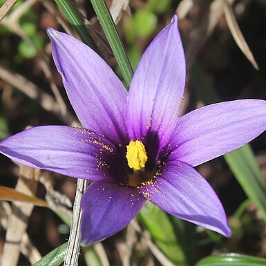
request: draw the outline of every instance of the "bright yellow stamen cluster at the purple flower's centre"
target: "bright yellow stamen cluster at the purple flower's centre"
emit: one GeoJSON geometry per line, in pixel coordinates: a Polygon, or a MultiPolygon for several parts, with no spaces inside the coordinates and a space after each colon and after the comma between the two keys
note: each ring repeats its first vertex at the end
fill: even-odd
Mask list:
{"type": "Polygon", "coordinates": [[[148,160],[144,144],[140,140],[136,140],[135,142],[131,140],[129,145],[126,146],[126,149],[126,159],[129,167],[134,170],[143,169],[148,160]]]}

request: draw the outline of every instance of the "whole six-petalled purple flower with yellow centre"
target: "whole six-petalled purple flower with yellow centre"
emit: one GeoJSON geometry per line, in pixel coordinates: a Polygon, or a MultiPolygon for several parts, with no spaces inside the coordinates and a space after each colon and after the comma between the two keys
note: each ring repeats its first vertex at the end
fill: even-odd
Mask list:
{"type": "Polygon", "coordinates": [[[129,93],[88,46],[53,29],[48,35],[84,129],[28,129],[3,140],[1,153],[30,167],[93,182],[82,198],[85,245],[125,227],[146,200],[229,237],[220,200],[193,167],[263,133],[266,102],[222,102],[179,118],[186,71],[177,17],[146,49],[129,93]]]}

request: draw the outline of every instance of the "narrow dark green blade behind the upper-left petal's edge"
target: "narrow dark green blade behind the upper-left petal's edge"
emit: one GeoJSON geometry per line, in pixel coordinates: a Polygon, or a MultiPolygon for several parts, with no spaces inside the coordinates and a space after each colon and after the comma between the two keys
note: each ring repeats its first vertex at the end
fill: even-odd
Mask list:
{"type": "Polygon", "coordinates": [[[55,0],[55,3],[57,3],[57,6],[61,12],[64,14],[68,22],[73,26],[80,39],[82,39],[85,44],[95,50],[96,53],[99,53],[95,41],[88,33],[83,19],[79,16],[77,10],[75,10],[73,3],[70,0],[55,0]]]}

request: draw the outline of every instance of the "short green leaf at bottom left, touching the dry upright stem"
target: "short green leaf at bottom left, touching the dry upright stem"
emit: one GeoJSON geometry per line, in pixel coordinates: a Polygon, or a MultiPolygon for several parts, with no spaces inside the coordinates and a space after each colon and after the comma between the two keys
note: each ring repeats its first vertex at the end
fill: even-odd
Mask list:
{"type": "Polygon", "coordinates": [[[59,266],[64,261],[67,247],[68,243],[64,243],[63,245],[50,251],[50,253],[44,256],[44,258],[41,258],[41,260],[32,266],[59,266]]]}

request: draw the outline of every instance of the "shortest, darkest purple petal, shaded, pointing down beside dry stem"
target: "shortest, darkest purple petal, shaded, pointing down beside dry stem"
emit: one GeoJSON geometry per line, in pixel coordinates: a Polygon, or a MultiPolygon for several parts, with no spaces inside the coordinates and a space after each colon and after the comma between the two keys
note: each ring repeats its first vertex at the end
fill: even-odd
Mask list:
{"type": "Polygon", "coordinates": [[[145,200],[133,187],[95,182],[82,196],[82,243],[91,245],[124,228],[145,200]]]}

